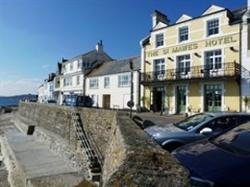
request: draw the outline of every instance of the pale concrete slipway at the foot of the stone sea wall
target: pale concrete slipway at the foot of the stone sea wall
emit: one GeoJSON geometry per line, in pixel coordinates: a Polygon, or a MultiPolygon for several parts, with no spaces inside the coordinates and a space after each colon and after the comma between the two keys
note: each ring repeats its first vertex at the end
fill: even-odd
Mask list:
{"type": "Polygon", "coordinates": [[[81,171],[71,167],[46,144],[20,132],[11,117],[0,116],[0,155],[2,152],[4,156],[0,179],[5,179],[0,186],[71,187],[85,180],[81,171]]]}

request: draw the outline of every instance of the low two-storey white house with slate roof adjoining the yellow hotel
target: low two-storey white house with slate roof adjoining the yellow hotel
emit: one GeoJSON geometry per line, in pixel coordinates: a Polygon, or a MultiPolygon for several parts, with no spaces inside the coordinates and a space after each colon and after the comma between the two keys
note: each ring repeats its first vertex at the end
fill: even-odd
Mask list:
{"type": "Polygon", "coordinates": [[[93,99],[94,106],[106,109],[128,109],[127,103],[131,100],[131,84],[133,84],[133,109],[138,109],[140,61],[140,57],[115,60],[93,69],[86,77],[86,95],[93,99]],[[132,67],[130,67],[131,63],[132,67]],[[130,68],[133,70],[131,71],[130,68]]]}

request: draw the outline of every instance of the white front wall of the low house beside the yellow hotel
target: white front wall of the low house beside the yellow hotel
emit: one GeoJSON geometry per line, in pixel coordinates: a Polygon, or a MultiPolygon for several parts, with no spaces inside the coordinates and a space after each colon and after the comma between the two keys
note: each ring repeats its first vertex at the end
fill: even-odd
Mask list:
{"type": "MultiPolygon", "coordinates": [[[[130,100],[130,86],[128,87],[118,87],[118,76],[122,74],[129,74],[127,73],[120,73],[120,74],[113,74],[113,75],[105,75],[105,76],[98,76],[98,77],[87,77],[86,78],[86,95],[95,96],[98,100],[95,101],[95,106],[103,107],[103,95],[110,95],[110,107],[111,108],[119,108],[125,109],[129,108],[127,106],[127,102],[130,100]],[[110,86],[108,88],[104,88],[104,77],[110,77],[110,86]],[[90,89],[89,88],[89,81],[90,79],[98,78],[98,88],[97,89],[90,89]]],[[[133,109],[136,109],[136,105],[138,105],[138,86],[139,86],[139,73],[133,73],[133,82],[134,82],[134,98],[133,101],[135,106],[133,109]]]]}

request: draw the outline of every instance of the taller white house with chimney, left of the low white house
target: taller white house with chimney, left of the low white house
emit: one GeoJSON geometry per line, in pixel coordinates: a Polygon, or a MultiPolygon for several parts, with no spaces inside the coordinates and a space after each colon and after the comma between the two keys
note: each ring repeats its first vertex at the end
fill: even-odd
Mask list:
{"type": "Polygon", "coordinates": [[[110,60],[112,58],[103,51],[102,41],[97,43],[94,50],[71,59],[62,59],[58,63],[54,83],[58,104],[63,104],[64,98],[70,95],[85,95],[85,73],[110,60]]]}

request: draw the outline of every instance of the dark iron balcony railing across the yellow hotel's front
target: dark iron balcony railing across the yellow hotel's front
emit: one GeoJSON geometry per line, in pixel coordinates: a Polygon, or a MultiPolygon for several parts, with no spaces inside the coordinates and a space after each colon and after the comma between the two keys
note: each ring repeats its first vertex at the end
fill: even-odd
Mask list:
{"type": "Polygon", "coordinates": [[[221,63],[208,66],[192,66],[188,68],[168,69],[141,73],[141,82],[177,81],[191,79],[215,79],[240,76],[240,64],[236,62],[221,63]]]}

